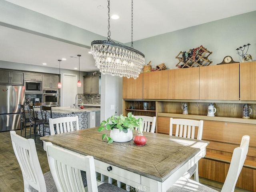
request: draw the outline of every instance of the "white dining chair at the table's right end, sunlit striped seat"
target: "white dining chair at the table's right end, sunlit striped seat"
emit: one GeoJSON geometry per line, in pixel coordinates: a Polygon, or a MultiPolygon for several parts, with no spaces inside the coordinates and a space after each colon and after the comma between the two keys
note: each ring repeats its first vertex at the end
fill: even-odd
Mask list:
{"type": "MultiPolygon", "coordinates": [[[[237,147],[233,151],[230,166],[228,169],[228,174],[226,176],[225,182],[222,186],[221,192],[234,192],[238,176],[244,165],[246,155],[249,148],[250,136],[245,135],[242,137],[240,147],[237,147]]],[[[216,170],[217,171],[217,170],[216,170]]],[[[224,171],[224,170],[218,170],[224,171]]],[[[212,188],[209,188],[203,184],[196,181],[190,180],[188,178],[181,177],[167,192],[218,192],[212,188]]]]}

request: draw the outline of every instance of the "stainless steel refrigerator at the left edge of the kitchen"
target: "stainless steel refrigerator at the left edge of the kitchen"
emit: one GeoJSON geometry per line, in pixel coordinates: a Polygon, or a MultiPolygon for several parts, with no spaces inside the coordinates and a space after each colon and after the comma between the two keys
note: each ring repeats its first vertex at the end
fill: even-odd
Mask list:
{"type": "Polygon", "coordinates": [[[0,132],[20,129],[18,104],[24,101],[24,86],[0,85],[0,132]]]}

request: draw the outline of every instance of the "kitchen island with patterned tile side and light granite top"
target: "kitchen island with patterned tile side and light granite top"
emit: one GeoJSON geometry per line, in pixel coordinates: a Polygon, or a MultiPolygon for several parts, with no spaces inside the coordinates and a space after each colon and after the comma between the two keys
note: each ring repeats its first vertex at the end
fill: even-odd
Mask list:
{"type": "MultiPolygon", "coordinates": [[[[38,118],[42,119],[40,108],[34,108],[38,112],[38,118]]],[[[70,107],[52,107],[52,118],[78,116],[79,128],[87,129],[99,126],[100,108],[70,108],[70,107]]],[[[40,127],[42,130],[42,127],[40,127]]],[[[46,128],[45,134],[49,134],[49,128],[46,128]]]]}

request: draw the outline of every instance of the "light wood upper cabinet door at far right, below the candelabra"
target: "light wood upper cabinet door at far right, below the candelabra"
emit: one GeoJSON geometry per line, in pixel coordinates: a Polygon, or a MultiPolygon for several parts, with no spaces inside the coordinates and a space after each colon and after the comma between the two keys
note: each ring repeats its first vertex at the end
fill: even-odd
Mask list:
{"type": "Polygon", "coordinates": [[[240,100],[256,100],[256,61],[240,63],[240,100]]]}

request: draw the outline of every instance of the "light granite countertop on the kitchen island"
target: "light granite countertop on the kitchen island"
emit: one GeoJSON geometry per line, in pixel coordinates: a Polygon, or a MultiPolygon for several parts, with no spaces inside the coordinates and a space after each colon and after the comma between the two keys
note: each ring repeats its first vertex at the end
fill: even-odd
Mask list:
{"type": "MultiPolygon", "coordinates": [[[[34,108],[34,111],[40,111],[40,108],[34,108]]],[[[52,113],[70,113],[70,112],[96,112],[100,111],[100,108],[70,108],[70,107],[52,107],[52,113]]]]}

